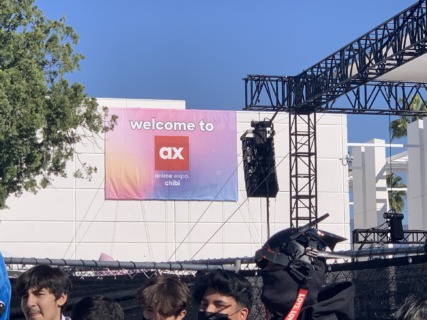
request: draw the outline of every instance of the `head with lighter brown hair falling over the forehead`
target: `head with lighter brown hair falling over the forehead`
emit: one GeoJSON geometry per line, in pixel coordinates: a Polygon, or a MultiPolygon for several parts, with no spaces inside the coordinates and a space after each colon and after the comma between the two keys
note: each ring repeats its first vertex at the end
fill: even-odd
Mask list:
{"type": "Polygon", "coordinates": [[[170,274],[147,279],[137,292],[138,305],[147,320],[183,319],[189,297],[187,284],[170,274]]]}

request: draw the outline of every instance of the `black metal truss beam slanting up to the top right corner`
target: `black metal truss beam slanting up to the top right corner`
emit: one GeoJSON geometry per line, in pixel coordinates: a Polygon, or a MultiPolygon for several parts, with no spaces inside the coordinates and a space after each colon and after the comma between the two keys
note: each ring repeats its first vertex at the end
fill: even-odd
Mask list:
{"type": "Polygon", "coordinates": [[[246,109],[315,112],[427,52],[427,0],[395,15],[296,76],[248,75],[246,109]]]}

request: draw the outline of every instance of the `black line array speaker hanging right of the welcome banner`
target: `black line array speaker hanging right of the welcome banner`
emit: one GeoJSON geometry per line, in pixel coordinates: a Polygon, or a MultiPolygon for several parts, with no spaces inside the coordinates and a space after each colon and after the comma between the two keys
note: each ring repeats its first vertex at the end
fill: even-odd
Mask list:
{"type": "Polygon", "coordinates": [[[249,197],[276,197],[279,191],[273,137],[242,138],[246,194],[249,197]]]}

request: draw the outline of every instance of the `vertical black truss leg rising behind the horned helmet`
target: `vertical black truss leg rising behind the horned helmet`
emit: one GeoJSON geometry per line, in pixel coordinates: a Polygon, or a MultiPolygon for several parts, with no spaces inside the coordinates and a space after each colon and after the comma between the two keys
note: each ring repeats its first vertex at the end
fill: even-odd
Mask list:
{"type": "Polygon", "coordinates": [[[316,113],[289,112],[290,222],[317,219],[316,113]]]}

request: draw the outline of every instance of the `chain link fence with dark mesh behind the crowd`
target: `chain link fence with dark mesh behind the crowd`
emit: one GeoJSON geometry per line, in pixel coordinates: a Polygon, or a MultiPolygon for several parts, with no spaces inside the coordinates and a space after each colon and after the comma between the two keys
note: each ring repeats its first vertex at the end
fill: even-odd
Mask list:
{"type": "MultiPolygon", "coordinates": [[[[220,260],[216,261],[216,263],[220,260]]],[[[24,266],[9,266],[11,283],[14,286],[16,276],[24,266]]],[[[27,266],[30,267],[30,266],[27,266]]],[[[73,290],[67,304],[66,314],[82,297],[88,295],[106,295],[117,300],[125,311],[125,319],[142,319],[136,301],[136,292],[143,282],[157,273],[175,273],[185,281],[190,289],[196,278],[206,272],[199,267],[186,270],[124,269],[97,267],[60,266],[70,276],[73,290]]],[[[230,268],[218,264],[213,268],[230,268]]],[[[255,304],[250,313],[250,320],[265,319],[264,306],[260,301],[262,279],[253,264],[239,266],[240,272],[253,285],[255,304]]],[[[355,310],[356,319],[393,319],[393,313],[410,295],[421,295],[427,292],[427,258],[426,255],[407,256],[392,259],[376,259],[365,262],[347,262],[329,265],[325,285],[352,281],[356,286],[355,310]]],[[[193,302],[188,308],[186,319],[197,319],[197,309],[193,302]]],[[[11,319],[22,319],[19,298],[14,294],[11,304],[11,319]]]]}

